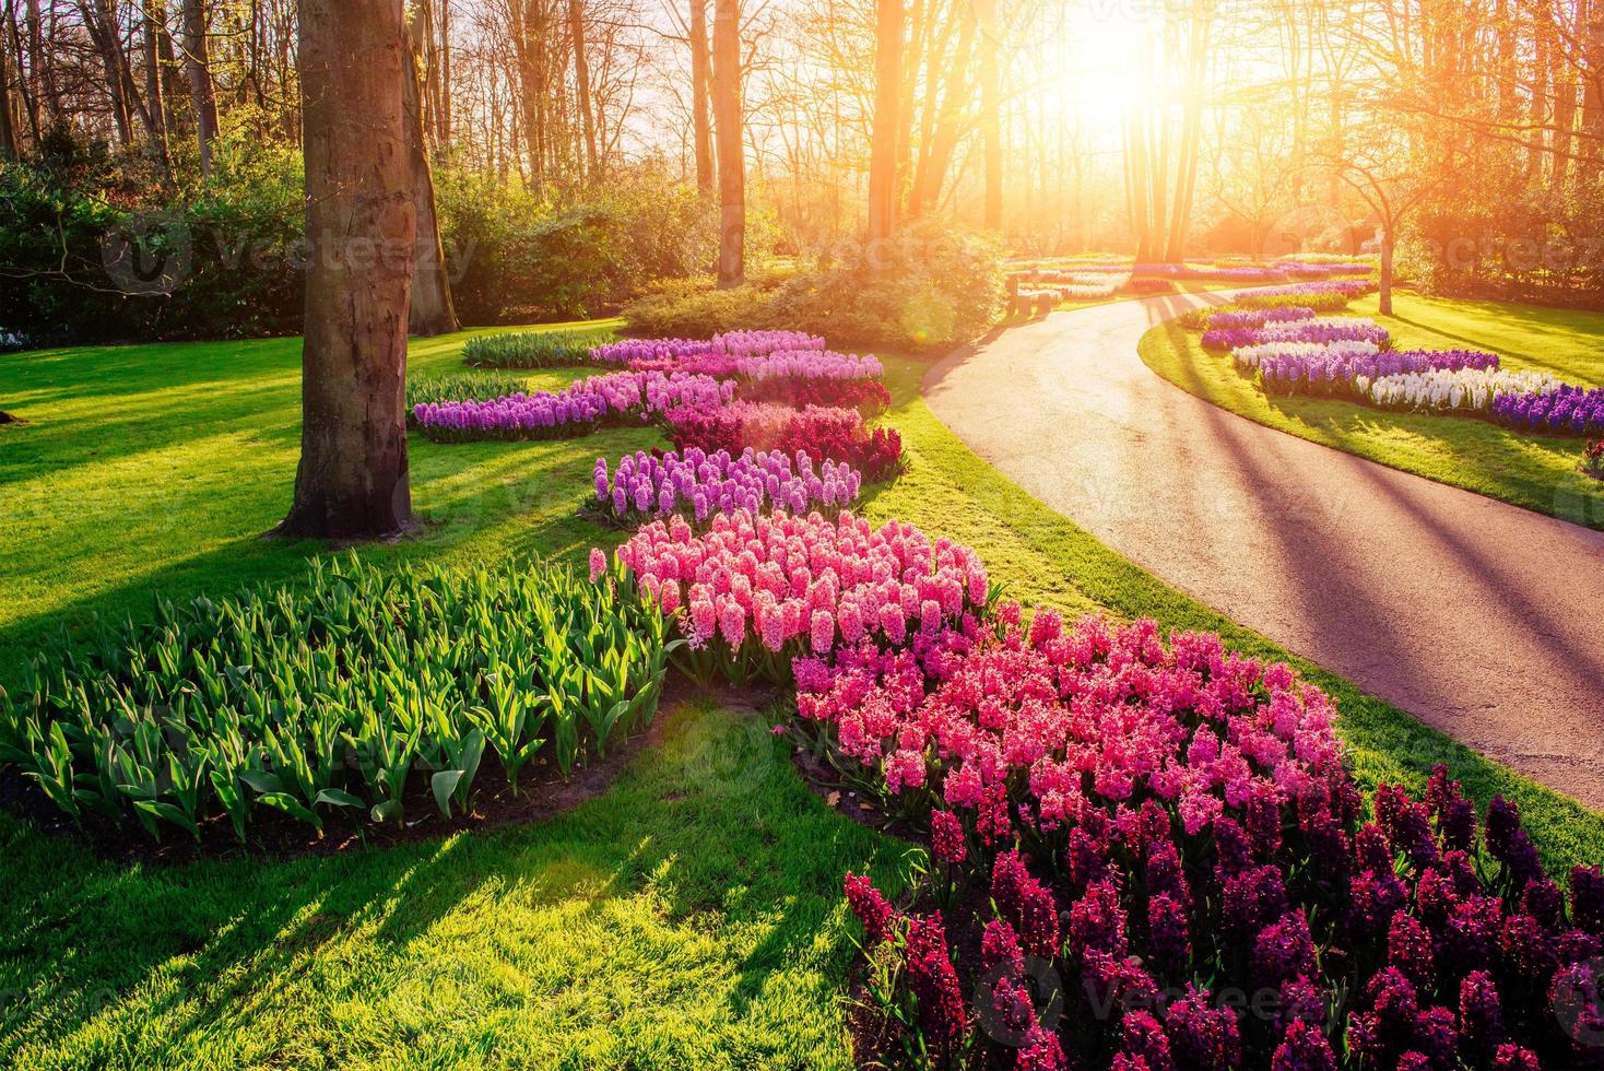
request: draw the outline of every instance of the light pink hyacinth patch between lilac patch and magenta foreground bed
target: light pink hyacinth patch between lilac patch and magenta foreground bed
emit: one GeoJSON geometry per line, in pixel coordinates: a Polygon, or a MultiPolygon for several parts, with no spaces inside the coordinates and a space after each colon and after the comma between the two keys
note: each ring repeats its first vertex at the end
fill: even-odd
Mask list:
{"type": "MultiPolygon", "coordinates": [[[[988,598],[980,556],[911,524],[871,527],[849,511],[834,521],[738,508],[696,536],[683,519],[654,521],[618,548],[687,638],[677,657],[696,680],[791,680],[791,657],[839,643],[914,637],[943,643],[978,630],[988,598]]],[[[606,558],[590,552],[592,576],[606,558]]]]}

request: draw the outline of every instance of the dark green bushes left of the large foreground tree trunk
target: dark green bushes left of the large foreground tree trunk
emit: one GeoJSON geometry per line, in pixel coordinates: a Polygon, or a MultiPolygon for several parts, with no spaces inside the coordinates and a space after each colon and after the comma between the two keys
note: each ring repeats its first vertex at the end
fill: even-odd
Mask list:
{"type": "Polygon", "coordinates": [[[165,191],[141,157],[56,133],[0,164],[0,333],[29,345],[297,330],[305,220],[295,152],[218,141],[205,186],[165,191]]]}

